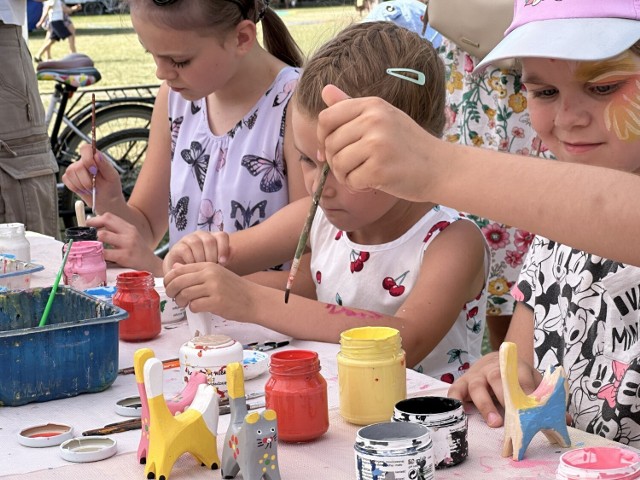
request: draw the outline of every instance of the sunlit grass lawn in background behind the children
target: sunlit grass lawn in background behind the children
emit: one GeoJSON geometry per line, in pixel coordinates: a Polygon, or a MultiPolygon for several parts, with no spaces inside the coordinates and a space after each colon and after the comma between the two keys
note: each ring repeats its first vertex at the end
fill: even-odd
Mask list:
{"type": "MultiPolygon", "coordinates": [[[[352,5],[337,7],[307,7],[276,10],[305,54],[312,53],[342,28],[358,20],[352,5]]],[[[102,73],[98,86],[120,86],[159,83],[155,77],[155,64],[144,53],[131,27],[128,15],[81,15],[73,17],[76,27],[78,52],[86,53],[102,73]]],[[[259,32],[258,38],[262,38],[259,32]]],[[[44,32],[30,34],[32,53],[44,42],[44,32]]],[[[52,48],[54,58],[69,53],[66,42],[58,42],[52,48]]],[[[40,82],[40,92],[52,91],[51,82],[40,82]]]]}

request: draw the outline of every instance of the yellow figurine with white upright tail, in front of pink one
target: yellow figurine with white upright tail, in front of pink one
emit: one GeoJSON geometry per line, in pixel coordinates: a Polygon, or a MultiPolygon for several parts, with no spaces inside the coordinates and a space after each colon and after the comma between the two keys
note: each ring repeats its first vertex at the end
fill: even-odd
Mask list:
{"type": "Polygon", "coordinates": [[[191,406],[173,416],[162,393],[163,365],[157,358],[144,364],[144,386],[149,402],[149,451],[146,478],[168,480],[173,464],[183,453],[215,470],[220,465],[216,432],[218,395],[215,387],[198,385],[191,406]]]}

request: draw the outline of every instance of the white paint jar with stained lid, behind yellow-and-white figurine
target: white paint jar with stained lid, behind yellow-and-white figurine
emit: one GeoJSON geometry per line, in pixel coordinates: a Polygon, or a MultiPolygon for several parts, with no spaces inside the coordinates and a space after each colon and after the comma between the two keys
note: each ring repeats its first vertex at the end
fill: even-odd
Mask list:
{"type": "Polygon", "coordinates": [[[194,337],[180,347],[180,372],[185,384],[192,372],[202,372],[207,383],[218,389],[221,398],[227,393],[227,365],[242,364],[242,344],[226,335],[194,337]]]}

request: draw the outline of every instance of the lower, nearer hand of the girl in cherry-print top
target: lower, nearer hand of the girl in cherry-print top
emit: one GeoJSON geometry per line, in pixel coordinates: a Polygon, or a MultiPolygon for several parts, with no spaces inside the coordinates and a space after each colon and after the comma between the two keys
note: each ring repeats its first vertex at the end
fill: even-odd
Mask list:
{"type": "Polygon", "coordinates": [[[251,318],[258,285],[216,263],[174,265],[164,277],[167,295],[193,312],[212,312],[243,321],[251,318]]]}

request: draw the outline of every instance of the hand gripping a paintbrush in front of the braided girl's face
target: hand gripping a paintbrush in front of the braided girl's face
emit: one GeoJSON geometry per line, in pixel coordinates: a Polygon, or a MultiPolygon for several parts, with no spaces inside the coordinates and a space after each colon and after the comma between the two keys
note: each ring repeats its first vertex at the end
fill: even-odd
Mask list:
{"type": "Polygon", "coordinates": [[[433,201],[427,194],[437,170],[430,163],[437,158],[434,147],[444,142],[378,97],[349,98],[327,85],[322,99],[328,108],[318,116],[319,157],[340,183],[354,192],[433,201]]]}

